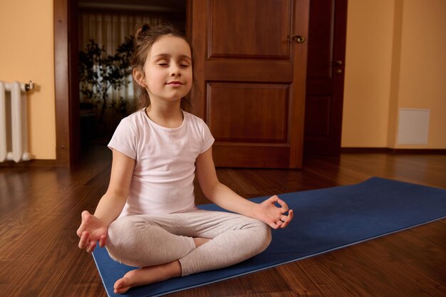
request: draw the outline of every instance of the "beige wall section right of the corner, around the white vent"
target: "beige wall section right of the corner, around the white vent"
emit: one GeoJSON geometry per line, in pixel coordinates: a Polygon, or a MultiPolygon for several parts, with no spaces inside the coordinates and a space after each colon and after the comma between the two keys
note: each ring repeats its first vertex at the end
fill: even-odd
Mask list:
{"type": "Polygon", "coordinates": [[[446,1],[404,0],[402,9],[398,108],[430,109],[426,147],[446,148],[446,1]]]}

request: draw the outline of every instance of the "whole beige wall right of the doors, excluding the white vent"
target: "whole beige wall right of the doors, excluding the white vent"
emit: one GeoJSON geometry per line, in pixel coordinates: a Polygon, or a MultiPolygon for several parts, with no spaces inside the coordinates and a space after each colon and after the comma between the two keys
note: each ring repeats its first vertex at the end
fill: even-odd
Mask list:
{"type": "Polygon", "coordinates": [[[348,4],[342,147],[446,148],[446,1],[348,4]],[[397,143],[400,108],[430,110],[427,145],[397,143]]]}

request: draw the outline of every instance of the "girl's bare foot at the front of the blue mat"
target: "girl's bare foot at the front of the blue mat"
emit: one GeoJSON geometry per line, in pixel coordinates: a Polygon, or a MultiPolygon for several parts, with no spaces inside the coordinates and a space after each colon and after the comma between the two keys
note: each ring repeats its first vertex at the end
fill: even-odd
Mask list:
{"type": "Polygon", "coordinates": [[[115,294],[123,294],[135,286],[157,283],[178,276],[181,276],[181,264],[180,261],[173,261],[167,264],[142,267],[128,271],[123,278],[115,282],[113,288],[115,294]]]}

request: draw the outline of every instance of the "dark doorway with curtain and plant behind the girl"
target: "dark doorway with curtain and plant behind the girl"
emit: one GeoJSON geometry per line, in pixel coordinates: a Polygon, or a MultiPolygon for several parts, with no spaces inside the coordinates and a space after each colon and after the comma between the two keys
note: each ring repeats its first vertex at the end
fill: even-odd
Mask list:
{"type": "Polygon", "coordinates": [[[78,1],[78,6],[73,9],[77,16],[72,16],[74,21],[77,20],[77,34],[71,38],[71,43],[78,43],[80,55],[76,56],[73,51],[71,59],[77,59],[73,66],[81,66],[78,67],[78,82],[72,81],[73,85],[81,85],[78,93],[81,160],[88,157],[95,146],[107,145],[120,120],[135,111],[130,71],[118,78],[125,84],[115,88],[117,84],[111,79],[105,79],[98,69],[120,66],[109,63],[110,59],[102,58],[96,60],[98,63],[93,70],[87,66],[95,55],[93,48],[103,48],[104,57],[123,59],[131,51],[130,40],[138,24],[170,22],[186,31],[186,7],[186,0],[78,1]],[[78,39],[74,40],[76,37],[78,39]],[[120,51],[117,51],[118,48],[120,51]],[[94,87],[87,81],[88,74],[91,76],[93,72],[99,76],[95,79],[94,87]],[[93,95],[92,90],[95,92],[93,95]]]}

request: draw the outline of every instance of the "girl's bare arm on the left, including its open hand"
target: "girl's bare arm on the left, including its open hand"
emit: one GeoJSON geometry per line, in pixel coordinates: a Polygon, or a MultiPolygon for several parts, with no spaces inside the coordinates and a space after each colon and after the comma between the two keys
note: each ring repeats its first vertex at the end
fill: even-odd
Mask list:
{"type": "Polygon", "coordinates": [[[93,251],[96,241],[99,241],[100,246],[105,246],[108,226],[119,216],[127,201],[134,167],[135,160],[122,152],[113,150],[107,192],[100,199],[94,215],[86,210],[82,212],[81,226],[76,232],[81,238],[79,248],[86,249],[88,252],[93,251]]]}

